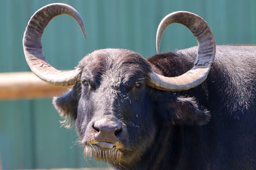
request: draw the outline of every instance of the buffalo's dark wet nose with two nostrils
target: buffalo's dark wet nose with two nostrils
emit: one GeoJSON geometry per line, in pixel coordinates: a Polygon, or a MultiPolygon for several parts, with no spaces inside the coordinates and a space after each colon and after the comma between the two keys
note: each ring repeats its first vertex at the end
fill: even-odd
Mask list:
{"type": "Polygon", "coordinates": [[[97,131],[95,139],[99,141],[115,143],[118,136],[122,133],[122,124],[113,120],[97,120],[92,127],[97,131]]]}

